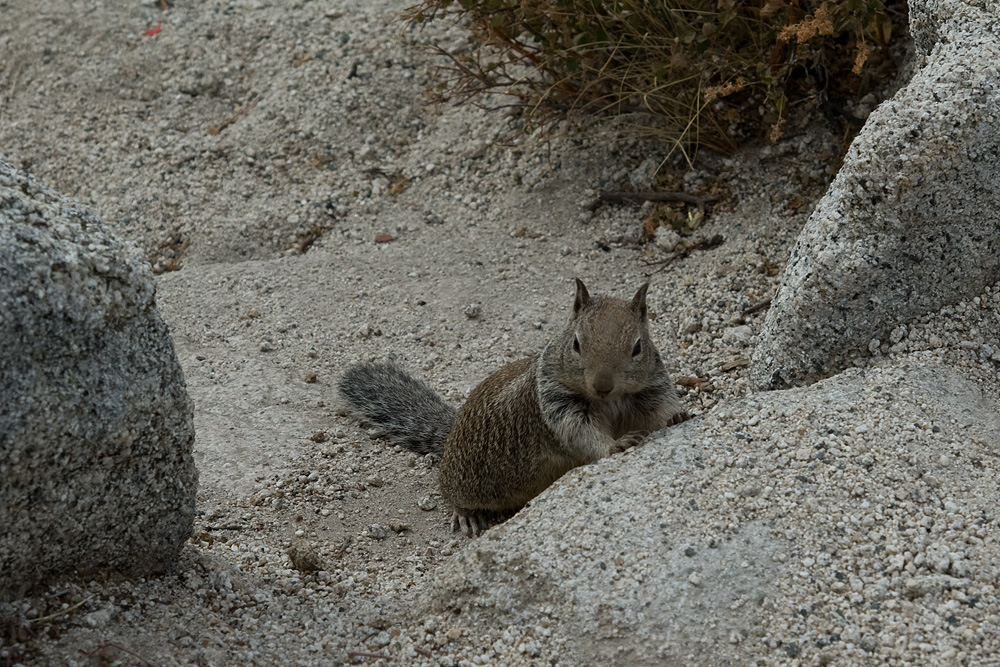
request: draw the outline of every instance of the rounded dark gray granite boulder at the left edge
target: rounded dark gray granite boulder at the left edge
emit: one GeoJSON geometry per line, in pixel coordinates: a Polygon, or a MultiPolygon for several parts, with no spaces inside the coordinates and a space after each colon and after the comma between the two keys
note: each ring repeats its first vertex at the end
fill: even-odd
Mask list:
{"type": "Polygon", "coordinates": [[[148,264],[0,162],[0,599],[190,535],[192,407],[148,264]]]}

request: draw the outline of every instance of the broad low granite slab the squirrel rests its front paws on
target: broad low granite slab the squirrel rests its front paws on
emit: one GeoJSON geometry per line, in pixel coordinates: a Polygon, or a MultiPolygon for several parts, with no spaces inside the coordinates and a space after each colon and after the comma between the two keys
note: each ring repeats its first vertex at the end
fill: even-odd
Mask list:
{"type": "Polygon", "coordinates": [[[975,662],[997,454],[996,397],[929,360],[750,396],[570,472],[421,611],[551,633],[567,664],[975,662]],[[933,640],[898,641],[918,618],[933,640]]]}

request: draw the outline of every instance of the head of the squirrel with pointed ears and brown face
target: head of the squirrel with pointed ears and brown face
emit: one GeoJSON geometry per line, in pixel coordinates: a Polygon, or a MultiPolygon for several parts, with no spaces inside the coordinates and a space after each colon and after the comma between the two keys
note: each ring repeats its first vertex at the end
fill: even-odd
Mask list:
{"type": "Polygon", "coordinates": [[[649,337],[644,283],[624,301],[592,297],[576,280],[573,315],[560,344],[560,380],[576,393],[594,401],[614,401],[641,391],[660,364],[659,352],[649,337]]]}

